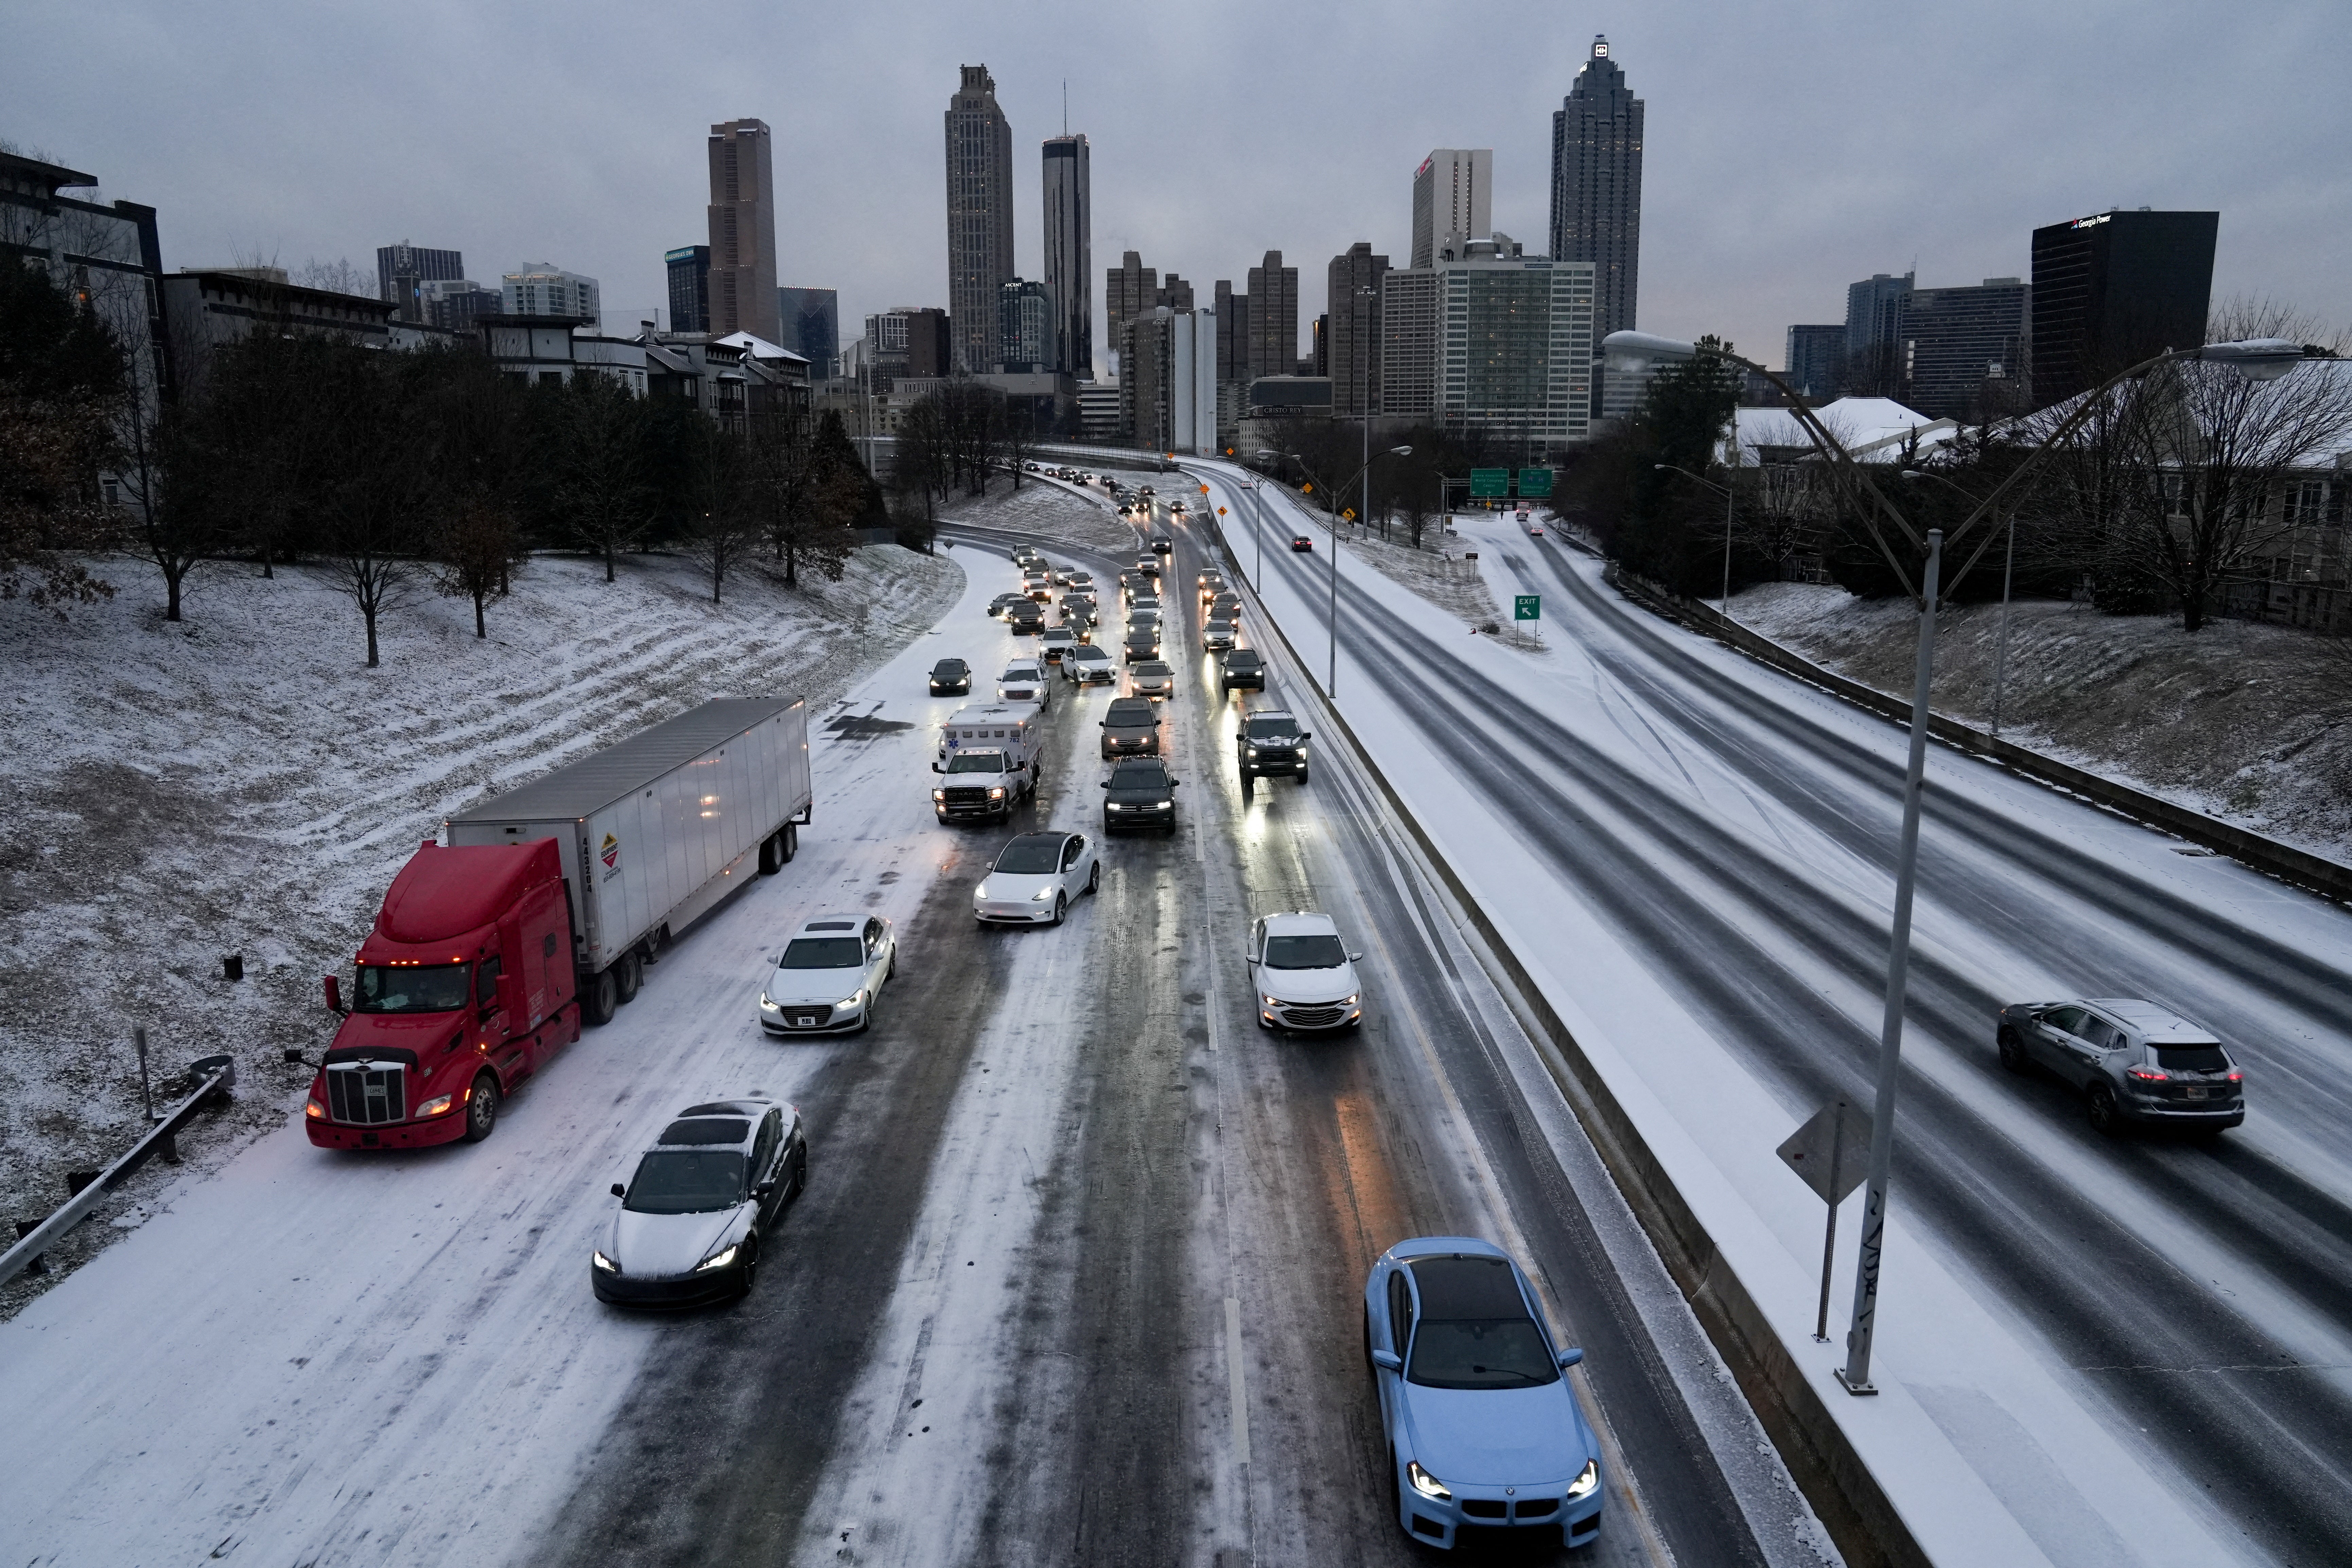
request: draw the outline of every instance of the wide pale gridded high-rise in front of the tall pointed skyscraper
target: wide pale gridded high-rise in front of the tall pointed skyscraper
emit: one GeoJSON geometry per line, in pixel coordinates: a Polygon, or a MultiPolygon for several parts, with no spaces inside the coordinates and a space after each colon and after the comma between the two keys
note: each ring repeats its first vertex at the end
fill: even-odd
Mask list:
{"type": "Polygon", "coordinates": [[[1437,266],[1437,418],[1484,430],[1541,463],[1585,440],[1599,268],[1522,256],[1508,235],[1437,266]]]}

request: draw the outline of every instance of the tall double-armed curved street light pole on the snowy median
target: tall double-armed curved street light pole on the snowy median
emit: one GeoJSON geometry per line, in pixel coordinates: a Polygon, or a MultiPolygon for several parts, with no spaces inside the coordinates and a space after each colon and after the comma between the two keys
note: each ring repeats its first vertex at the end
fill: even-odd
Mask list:
{"type": "MultiPolygon", "coordinates": [[[[1896,910],[1893,910],[1893,936],[1886,947],[1886,1013],[1879,1025],[1879,1084],[1877,1103],[1870,1124],[1870,1185],[1863,1199],[1863,1237],[1860,1237],[1860,1267],[1853,1274],[1853,1321],[1846,1331],[1846,1366],[1837,1368],[1837,1380],[1846,1385],[1849,1394],[1877,1394],[1877,1385],[1870,1382],[1870,1347],[1877,1335],[1877,1312],[1879,1312],[1879,1265],[1886,1251],[1886,1185],[1893,1168],[1893,1138],[1896,1138],[1896,1077],[1903,1065],[1903,1001],[1905,985],[1910,976],[1910,912],[1912,912],[1912,886],[1919,870],[1919,797],[1926,785],[1926,724],[1929,724],[1929,677],[1936,670],[1936,597],[1943,576],[1943,529],[1929,529],[1926,538],[1910,524],[1903,510],[1886,498],[1886,491],[1870,480],[1853,454],[1846,451],[1835,435],[1820,423],[1804,397],[1792,390],[1780,376],[1771,374],[1755,360],[1743,360],[1740,355],[1717,348],[1712,343],[1684,343],[1679,339],[1661,339],[1646,331],[1611,331],[1602,339],[1602,353],[1618,355],[1649,355],[1649,357],[1675,357],[1693,360],[1708,355],[1710,360],[1724,360],[1726,364],[1738,364],[1740,369],[1752,369],[1764,376],[1783,397],[1788,397],[1790,414],[1811,437],[1813,447],[1830,463],[1830,473],[1842,482],[1853,484],[1870,505],[1863,508],[1863,527],[1870,531],[1870,541],[1893,567],[1896,581],[1910,588],[1910,571],[1903,559],[1893,552],[1886,534],[1879,531],[1879,520],[1884,517],[1896,527],[1896,531],[1907,538],[1915,548],[1926,550],[1926,571],[1919,585],[1919,658],[1912,670],[1912,719],[1910,719],[1910,762],[1903,769],[1903,832],[1896,849],[1896,910]],[[1875,508],[1875,510],[1872,510],[1875,508]]],[[[1983,522],[2025,475],[2034,470],[2042,461],[2056,451],[2065,437],[2070,437],[2091,414],[2098,409],[2100,400],[2124,381],[2133,376],[2145,376],[2159,364],[2176,360],[2201,360],[2206,364],[2227,364],[2239,376],[2249,381],[2277,381],[2279,376],[2296,369],[2303,360],[2319,357],[2300,343],[2288,343],[2286,339],[2246,339],[2237,343],[2204,343],[2199,348],[2166,348],[2159,355],[2150,355],[2138,364],[2107,376],[2103,383],[2082,395],[2074,411],[2060,418],[2044,437],[2034,451],[2018,463],[2006,480],[1992,487],[1992,491],[1976,503],[1976,508],[1952,529],[1950,543],[1959,543],[1969,529],[1983,522]]],[[[2011,515],[2013,517],[2013,515],[2011,515]]],[[[1976,555],[1962,564],[1952,576],[1952,585],[1976,567],[1983,557],[1985,543],[1976,548],[1976,555]]]]}

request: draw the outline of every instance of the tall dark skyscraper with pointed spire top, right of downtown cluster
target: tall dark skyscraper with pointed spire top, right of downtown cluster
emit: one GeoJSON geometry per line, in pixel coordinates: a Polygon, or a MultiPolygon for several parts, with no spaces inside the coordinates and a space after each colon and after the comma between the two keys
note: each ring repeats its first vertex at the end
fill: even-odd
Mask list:
{"type": "Polygon", "coordinates": [[[1642,99],[1592,40],[1552,115],[1552,261],[1592,263],[1592,341],[1635,327],[1642,284],[1642,99]]]}

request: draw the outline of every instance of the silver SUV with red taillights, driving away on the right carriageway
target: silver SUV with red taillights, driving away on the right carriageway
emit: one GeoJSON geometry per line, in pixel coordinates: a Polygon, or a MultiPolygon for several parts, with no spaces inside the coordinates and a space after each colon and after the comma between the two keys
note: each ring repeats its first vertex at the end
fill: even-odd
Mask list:
{"type": "Polygon", "coordinates": [[[2013,1001],[1994,1039],[2011,1072],[2046,1067],[2082,1091],[2091,1126],[2218,1133],[2246,1119],[2246,1074],[2213,1034],[2154,1001],[2013,1001]]]}

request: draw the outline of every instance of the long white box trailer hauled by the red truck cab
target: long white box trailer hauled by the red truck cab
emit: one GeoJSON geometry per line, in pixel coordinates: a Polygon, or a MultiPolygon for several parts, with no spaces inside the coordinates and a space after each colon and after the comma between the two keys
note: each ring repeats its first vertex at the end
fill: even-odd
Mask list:
{"type": "Polygon", "coordinates": [[[555,839],[581,1018],[637,994],[659,943],[800,849],[809,710],[720,698],[449,818],[449,844],[555,839]]]}

